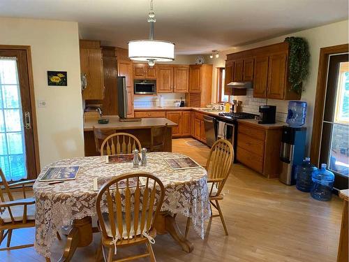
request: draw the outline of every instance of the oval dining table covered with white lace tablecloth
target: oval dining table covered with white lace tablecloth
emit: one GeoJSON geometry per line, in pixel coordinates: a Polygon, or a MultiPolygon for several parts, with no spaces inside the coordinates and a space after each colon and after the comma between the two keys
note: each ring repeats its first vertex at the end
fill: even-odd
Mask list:
{"type": "Polygon", "coordinates": [[[105,156],[63,159],[45,166],[34,184],[36,198],[36,251],[50,260],[50,247],[57,232],[68,227],[66,247],[59,261],[70,261],[77,247],[87,247],[98,228],[92,226],[96,217],[94,179],[112,179],[125,173],[151,173],[165,187],[161,212],[154,222],[158,234],[169,233],[185,252],[193,251],[193,243],[179,230],[177,214],[189,217],[196,233],[203,239],[204,223],[211,217],[207,171],[202,166],[181,170],[172,169],[165,159],[186,157],[171,152],[149,152],[147,163],[133,167],[133,163],[107,163],[105,156]],[[74,180],[60,183],[40,181],[48,168],[79,166],[74,180]]]}

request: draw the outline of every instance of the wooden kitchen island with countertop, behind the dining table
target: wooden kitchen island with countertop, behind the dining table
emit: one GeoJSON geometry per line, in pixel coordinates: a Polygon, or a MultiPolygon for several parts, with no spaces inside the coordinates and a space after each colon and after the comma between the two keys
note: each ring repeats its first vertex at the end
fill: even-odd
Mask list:
{"type": "Polygon", "coordinates": [[[120,122],[116,115],[106,115],[103,116],[103,119],[109,119],[109,123],[98,124],[98,118],[96,117],[85,117],[84,119],[84,153],[86,157],[98,155],[94,141],[94,128],[115,130],[116,133],[131,133],[140,140],[142,147],[149,148],[151,127],[168,124],[163,151],[172,152],[172,127],[177,126],[177,124],[165,117],[142,118],[139,122],[120,122]]]}

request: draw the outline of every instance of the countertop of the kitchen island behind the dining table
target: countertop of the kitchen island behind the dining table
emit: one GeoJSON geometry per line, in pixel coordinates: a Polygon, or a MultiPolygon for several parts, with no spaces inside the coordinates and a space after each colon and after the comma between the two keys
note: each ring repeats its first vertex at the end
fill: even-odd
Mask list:
{"type": "Polygon", "coordinates": [[[177,126],[176,123],[166,119],[164,117],[158,118],[142,118],[138,122],[120,122],[117,115],[105,115],[103,119],[109,119],[108,124],[98,124],[96,118],[85,117],[84,119],[84,131],[93,131],[96,129],[150,129],[153,126],[163,126],[166,123],[169,127],[177,126]]]}

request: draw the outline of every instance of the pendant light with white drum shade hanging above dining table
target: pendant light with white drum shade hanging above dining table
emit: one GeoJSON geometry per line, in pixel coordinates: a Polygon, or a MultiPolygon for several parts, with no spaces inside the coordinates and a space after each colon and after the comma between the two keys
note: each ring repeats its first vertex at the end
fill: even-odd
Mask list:
{"type": "Polygon", "coordinates": [[[153,0],[150,0],[148,22],[150,23],[149,39],[128,42],[128,57],[132,60],[147,61],[149,66],[154,66],[156,61],[173,61],[174,43],[154,40],[154,22],[156,19],[153,0]]]}

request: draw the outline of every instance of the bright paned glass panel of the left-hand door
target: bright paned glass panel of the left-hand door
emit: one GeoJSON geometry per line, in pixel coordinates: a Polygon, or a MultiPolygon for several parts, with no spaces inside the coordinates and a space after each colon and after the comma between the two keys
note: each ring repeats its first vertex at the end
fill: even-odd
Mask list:
{"type": "Polygon", "coordinates": [[[8,181],[27,178],[22,105],[15,57],[0,57],[0,168],[8,181]]]}

